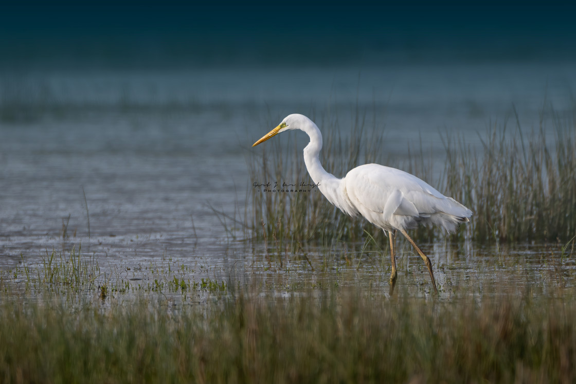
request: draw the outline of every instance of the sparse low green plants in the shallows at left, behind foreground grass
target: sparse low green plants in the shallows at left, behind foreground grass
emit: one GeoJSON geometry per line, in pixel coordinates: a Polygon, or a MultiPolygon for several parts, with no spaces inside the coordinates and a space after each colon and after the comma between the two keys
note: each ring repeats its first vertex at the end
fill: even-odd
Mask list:
{"type": "Polygon", "coordinates": [[[119,269],[101,267],[98,260],[96,254],[82,252],[81,245],[73,245],[67,252],[47,250],[40,258],[21,254],[19,265],[0,270],[0,292],[4,298],[84,295],[106,299],[139,293],[180,295],[186,300],[228,291],[222,273],[198,262],[190,267],[160,258],[119,269]]]}

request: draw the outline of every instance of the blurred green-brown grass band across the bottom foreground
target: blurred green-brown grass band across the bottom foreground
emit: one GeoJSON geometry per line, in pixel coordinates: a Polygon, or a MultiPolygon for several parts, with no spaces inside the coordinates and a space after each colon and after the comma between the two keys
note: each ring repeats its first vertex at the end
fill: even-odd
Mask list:
{"type": "Polygon", "coordinates": [[[220,302],[0,304],[11,382],[573,382],[576,305],[335,290],[220,302]]]}

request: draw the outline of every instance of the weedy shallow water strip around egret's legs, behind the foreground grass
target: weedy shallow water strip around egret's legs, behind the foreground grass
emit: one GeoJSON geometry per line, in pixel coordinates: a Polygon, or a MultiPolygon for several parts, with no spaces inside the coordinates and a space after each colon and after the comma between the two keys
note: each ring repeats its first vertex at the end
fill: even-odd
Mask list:
{"type": "MultiPolygon", "coordinates": [[[[155,242],[147,239],[143,243],[147,241],[155,242]]],[[[142,255],[151,252],[151,248],[142,245],[133,246],[143,249],[142,255]]],[[[425,244],[422,250],[434,266],[437,296],[425,264],[410,244],[399,241],[397,245],[398,276],[393,287],[389,281],[389,253],[366,249],[363,244],[305,246],[292,253],[275,246],[233,241],[211,252],[184,245],[183,254],[165,252],[153,257],[97,252],[92,256],[82,249],[81,264],[88,265],[88,272],[93,275],[86,276],[81,269],[84,283],[78,286],[79,291],[74,277],[69,283],[46,283],[44,274],[50,270],[47,265],[64,265],[59,255],[52,261],[50,253],[40,258],[23,257],[15,267],[0,271],[0,287],[5,292],[1,301],[23,297],[44,299],[47,293],[97,301],[100,286],[107,286],[107,297],[115,300],[151,294],[181,304],[204,303],[237,294],[274,298],[362,292],[375,299],[408,295],[433,296],[450,302],[469,298],[498,300],[502,296],[562,299],[576,294],[573,248],[562,252],[556,245],[499,248],[470,243],[425,244]],[[180,286],[182,282],[184,288],[180,286]]],[[[62,255],[70,266],[68,254],[62,255]]],[[[58,273],[65,275],[61,270],[58,273]]]]}

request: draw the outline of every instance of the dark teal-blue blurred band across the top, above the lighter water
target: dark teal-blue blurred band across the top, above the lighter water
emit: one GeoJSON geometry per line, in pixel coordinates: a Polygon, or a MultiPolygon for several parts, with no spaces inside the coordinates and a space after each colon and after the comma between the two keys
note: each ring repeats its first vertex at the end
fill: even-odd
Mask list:
{"type": "Polygon", "coordinates": [[[25,2],[0,12],[10,67],[338,66],[573,61],[562,2],[25,2]]]}

